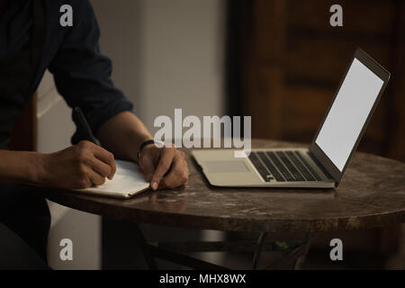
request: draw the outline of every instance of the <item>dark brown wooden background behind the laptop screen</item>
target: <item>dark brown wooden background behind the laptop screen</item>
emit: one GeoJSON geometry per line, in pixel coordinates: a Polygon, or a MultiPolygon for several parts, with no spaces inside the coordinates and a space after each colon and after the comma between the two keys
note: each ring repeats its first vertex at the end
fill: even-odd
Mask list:
{"type": "Polygon", "coordinates": [[[405,2],[228,1],[228,109],[252,137],[311,142],[355,50],[392,73],[358,150],[405,160],[405,2]],[[329,24],[332,4],[343,27],[329,24]]]}

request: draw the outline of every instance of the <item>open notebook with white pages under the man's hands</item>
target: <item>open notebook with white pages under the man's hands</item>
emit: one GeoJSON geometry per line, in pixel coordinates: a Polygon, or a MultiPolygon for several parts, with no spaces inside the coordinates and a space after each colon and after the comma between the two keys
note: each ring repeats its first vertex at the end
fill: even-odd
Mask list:
{"type": "Polygon", "coordinates": [[[122,160],[115,160],[115,166],[117,170],[112,180],[106,179],[103,185],[76,189],[76,191],[116,198],[130,198],[148,189],[149,184],[144,180],[139,166],[122,160]]]}

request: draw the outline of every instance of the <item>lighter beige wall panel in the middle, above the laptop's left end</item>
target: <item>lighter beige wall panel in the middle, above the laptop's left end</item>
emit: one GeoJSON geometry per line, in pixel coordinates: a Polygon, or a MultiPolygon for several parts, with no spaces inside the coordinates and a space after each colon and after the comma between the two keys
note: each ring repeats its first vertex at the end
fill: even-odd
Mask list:
{"type": "Polygon", "coordinates": [[[144,0],[141,94],[144,120],[223,113],[224,1],[144,0]]]}

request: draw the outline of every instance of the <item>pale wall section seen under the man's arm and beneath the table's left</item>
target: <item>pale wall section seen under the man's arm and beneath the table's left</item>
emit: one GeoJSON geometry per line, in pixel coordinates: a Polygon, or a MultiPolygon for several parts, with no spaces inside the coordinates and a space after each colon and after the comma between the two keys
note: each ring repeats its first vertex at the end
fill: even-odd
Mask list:
{"type": "MultiPolygon", "coordinates": [[[[38,89],[38,150],[55,152],[70,146],[75,131],[70,109],[56,91],[53,77],[46,73],[38,89]]],[[[101,251],[100,217],[49,202],[51,226],[48,238],[49,266],[53,269],[99,269],[101,251]],[[73,261],[62,261],[62,238],[73,241],[73,261]]]]}

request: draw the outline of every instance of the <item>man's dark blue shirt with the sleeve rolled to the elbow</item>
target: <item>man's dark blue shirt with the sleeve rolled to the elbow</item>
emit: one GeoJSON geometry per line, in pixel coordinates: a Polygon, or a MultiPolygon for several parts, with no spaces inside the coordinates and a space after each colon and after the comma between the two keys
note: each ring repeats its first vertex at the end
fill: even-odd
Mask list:
{"type": "MultiPolygon", "coordinates": [[[[0,58],[14,57],[31,42],[36,0],[10,0],[0,16],[0,58]]],[[[94,132],[119,112],[131,111],[132,103],[114,87],[112,63],[100,53],[100,30],[88,0],[45,0],[47,33],[40,67],[31,94],[48,68],[70,107],[79,106],[94,132]],[[73,8],[73,27],[62,27],[60,6],[73,8]]]]}

